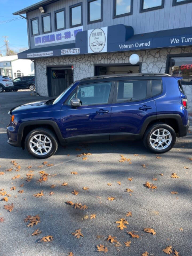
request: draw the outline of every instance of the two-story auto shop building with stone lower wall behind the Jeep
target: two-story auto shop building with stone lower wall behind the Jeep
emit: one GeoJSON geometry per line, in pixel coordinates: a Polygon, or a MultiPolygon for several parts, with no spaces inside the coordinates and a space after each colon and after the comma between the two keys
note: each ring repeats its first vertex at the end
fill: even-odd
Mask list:
{"type": "Polygon", "coordinates": [[[57,96],[93,75],[168,73],[183,77],[192,111],[192,0],[47,0],[26,14],[36,90],[57,96]],[[131,65],[131,54],[139,62],[131,65]]]}

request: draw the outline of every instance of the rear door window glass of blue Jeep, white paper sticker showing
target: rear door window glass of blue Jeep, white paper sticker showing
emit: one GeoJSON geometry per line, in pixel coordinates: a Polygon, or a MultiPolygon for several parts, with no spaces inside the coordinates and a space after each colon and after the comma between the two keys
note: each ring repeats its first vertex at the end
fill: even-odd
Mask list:
{"type": "Polygon", "coordinates": [[[119,81],[117,102],[139,101],[147,97],[147,81],[119,81]]]}

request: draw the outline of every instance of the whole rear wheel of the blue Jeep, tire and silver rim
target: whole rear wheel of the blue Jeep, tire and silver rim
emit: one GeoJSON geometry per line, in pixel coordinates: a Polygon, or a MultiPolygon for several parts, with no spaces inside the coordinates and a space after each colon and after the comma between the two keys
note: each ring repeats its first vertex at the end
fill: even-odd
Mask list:
{"type": "Polygon", "coordinates": [[[176,133],[165,123],[156,123],[150,126],[143,137],[143,143],[153,153],[165,153],[175,145],[176,133]]]}

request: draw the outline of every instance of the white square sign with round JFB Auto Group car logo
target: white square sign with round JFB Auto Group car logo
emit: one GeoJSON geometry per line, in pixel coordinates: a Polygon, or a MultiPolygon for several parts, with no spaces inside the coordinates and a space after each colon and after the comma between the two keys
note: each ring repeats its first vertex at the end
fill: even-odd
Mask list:
{"type": "Polygon", "coordinates": [[[107,52],[107,27],[87,31],[88,53],[107,52]]]}

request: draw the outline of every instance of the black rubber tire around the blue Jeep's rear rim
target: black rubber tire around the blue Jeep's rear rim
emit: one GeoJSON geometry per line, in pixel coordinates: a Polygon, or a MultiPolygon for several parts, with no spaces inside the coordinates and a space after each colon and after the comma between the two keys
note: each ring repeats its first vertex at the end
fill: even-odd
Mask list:
{"type": "MultiPolygon", "coordinates": [[[[160,132],[162,132],[161,130],[160,130],[160,132]]],[[[156,136],[156,135],[155,135],[156,136]]],[[[156,139],[157,137],[155,137],[154,136],[154,138],[156,139]]],[[[159,135],[160,137],[161,137],[161,134],[159,135]]],[[[162,135],[163,136],[163,135],[162,135]]],[[[152,137],[153,137],[153,135],[152,135],[152,137]]],[[[159,137],[159,138],[160,138],[159,137]]],[[[166,136],[166,138],[168,138],[168,136],[166,136]]],[[[161,139],[161,138],[160,138],[161,139]]],[[[165,124],[165,123],[155,123],[155,124],[153,124],[153,125],[151,125],[149,128],[147,128],[147,130],[145,131],[145,134],[144,134],[144,136],[143,136],[143,144],[145,145],[145,147],[147,148],[147,149],[149,149],[151,152],[153,152],[153,153],[158,153],[158,154],[161,154],[161,153],[165,153],[165,152],[167,152],[167,151],[169,151],[170,149],[172,149],[172,147],[175,145],[175,141],[176,141],[176,133],[175,133],[175,131],[174,131],[174,129],[171,127],[171,126],[169,126],[169,125],[167,125],[167,124],[165,124]],[[157,129],[166,129],[167,131],[169,131],[170,132],[170,134],[171,134],[171,142],[170,142],[170,144],[169,144],[169,146],[168,147],[166,147],[165,149],[155,149],[151,144],[150,144],[150,136],[151,136],[151,134],[154,132],[154,131],[156,131],[157,129]]],[[[166,141],[167,143],[169,143],[169,141],[167,140],[166,141]]],[[[157,143],[159,143],[159,142],[157,142],[157,143]]],[[[166,144],[165,144],[165,142],[164,143],[162,143],[164,146],[166,146],[166,144]]]]}

